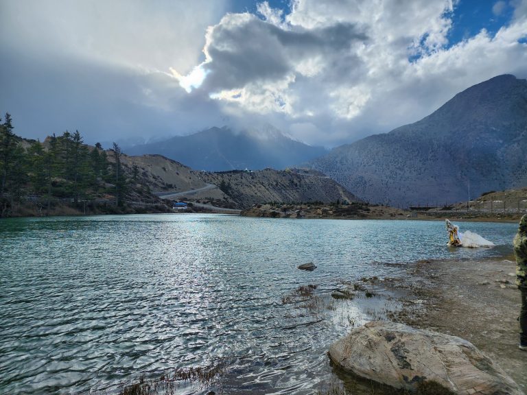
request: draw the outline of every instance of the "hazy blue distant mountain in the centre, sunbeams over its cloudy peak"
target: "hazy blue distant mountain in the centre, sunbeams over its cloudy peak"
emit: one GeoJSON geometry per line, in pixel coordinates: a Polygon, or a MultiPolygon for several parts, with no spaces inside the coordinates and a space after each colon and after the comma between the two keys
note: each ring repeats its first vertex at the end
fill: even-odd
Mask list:
{"type": "Polygon", "coordinates": [[[196,170],[285,169],[327,154],[284,136],[267,125],[264,128],[234,132],[229,128],[211,128],[189,136],[136,145],[126,154],[161,154],[196,170]]]}

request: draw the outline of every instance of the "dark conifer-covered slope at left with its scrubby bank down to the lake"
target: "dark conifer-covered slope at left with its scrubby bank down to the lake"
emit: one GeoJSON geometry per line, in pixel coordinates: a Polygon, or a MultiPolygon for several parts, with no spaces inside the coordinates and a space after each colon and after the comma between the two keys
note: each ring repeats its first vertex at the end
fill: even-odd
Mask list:
{"type": "Polygon", "coordinates": [[[84,144],[78,130],[43,142],[22,139],[6,113],[0,122],[1,215],[24,215],[24,202],[51,214],[65,203],[82,211],[88,202],[89,210],[97,204],[97,211],[121,212],[127,200],[156,200],[148,186],[134,184],[139,168],[125,168],[121,156],[115,143],[108,151],[99,143],[84,144]]]}

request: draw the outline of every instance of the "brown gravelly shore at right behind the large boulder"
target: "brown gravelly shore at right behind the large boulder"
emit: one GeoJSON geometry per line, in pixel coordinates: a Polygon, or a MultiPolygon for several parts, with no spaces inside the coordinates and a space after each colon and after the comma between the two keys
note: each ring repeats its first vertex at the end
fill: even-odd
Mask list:
{"type": "Polygon", "coordinates": [[[393,321],[468,340],[527,392],[527,353],[518,349],[520,293],[510,258],[417,261],[408,276],[385,285],[410,289],[393,321]],[[415,298],[422,308],[415,308],[415,298]]]}

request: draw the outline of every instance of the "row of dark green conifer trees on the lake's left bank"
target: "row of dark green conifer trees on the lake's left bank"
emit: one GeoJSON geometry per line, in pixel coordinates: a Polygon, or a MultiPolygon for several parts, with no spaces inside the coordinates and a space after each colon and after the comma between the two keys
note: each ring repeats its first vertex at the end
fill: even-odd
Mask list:
{"type": "Polygon", "coordinates": [[[48,204],[51,197],[78,204],[109,194],[117,204],[123,203],[126,178],[116,143],[111,149],[115,163],[110,163],[102,145],[85,145],[78,130],[53,134],[44,142],[23,140],[13,130],[6,112],[0,118],[0,199],[17,202],[36,195],[48,197],[48,204]]]}

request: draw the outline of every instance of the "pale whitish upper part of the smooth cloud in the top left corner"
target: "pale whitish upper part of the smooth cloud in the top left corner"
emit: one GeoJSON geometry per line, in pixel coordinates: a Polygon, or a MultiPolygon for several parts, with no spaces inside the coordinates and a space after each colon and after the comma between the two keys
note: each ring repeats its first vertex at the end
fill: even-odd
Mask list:
{"type": "Polygon", "coordinates": [[[3,0],[0,44],[188,73],[201,60],[204,32],[224,13],[225,1],[3,0]]]}

